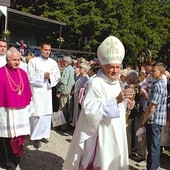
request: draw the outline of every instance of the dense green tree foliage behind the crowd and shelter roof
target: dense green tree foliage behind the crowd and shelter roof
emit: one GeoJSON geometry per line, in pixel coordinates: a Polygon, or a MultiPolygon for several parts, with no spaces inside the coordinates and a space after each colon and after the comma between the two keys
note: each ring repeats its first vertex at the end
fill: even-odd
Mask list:
{"type": "Polygon", "coordinates": [[[66,22],[62,36],[68,49],[95,52],[107,36],[115,35],[125,45],[125,62],[136,63],[142,48],[161,60],[169,55],[168,1],[11,0],[11,7],[66,22]]]}

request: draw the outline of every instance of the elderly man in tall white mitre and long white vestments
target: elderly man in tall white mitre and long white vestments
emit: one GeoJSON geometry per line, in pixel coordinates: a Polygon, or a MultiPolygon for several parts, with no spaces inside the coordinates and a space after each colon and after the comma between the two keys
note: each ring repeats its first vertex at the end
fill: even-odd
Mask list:
{"type": "Polygon", "coordinates": [[[126,109],[133,89],[122,89],[119,73],[125,49],[109,36],[98,47],[101,70],[90,82],[64,170],[128,170],[126,109]]]}

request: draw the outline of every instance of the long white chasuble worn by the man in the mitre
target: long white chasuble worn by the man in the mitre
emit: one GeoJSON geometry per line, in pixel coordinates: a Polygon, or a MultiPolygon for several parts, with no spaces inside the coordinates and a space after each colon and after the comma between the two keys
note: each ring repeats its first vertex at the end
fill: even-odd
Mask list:
{"type": "Polygon", "coordinates": [[[107,102],[115,99],[120,91],[120,82],[110,81],[101,71],[93,79],[63,170],[86,169],[92,161],[101,170],[129,169],[125,103],[118,104],[120,117],[103,118],[107,102]]]}

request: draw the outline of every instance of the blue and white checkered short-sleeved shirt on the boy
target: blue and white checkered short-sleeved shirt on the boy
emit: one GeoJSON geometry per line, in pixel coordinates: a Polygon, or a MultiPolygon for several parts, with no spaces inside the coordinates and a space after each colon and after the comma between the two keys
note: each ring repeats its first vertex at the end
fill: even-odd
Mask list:
{"type": "Polygon", "coordinates": [[[166,125],[167,87],[162,79],[159,79],[153,83],[149,100],[151,103],[156,105],[156,109],[147,123],[155,123],[161,126],[166,125]]]}

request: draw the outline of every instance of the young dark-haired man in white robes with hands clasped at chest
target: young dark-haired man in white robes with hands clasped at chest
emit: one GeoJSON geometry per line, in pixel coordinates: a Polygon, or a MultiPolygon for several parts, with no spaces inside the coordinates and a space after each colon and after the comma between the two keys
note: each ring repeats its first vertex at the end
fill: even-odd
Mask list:
{"type": "Polygon", "coordinates": [[[40,140],[48,142],[45,138],[50,136],[52,114],[52,87],[60,79],[58,64],[52,58],[51,45],[41,45],[41,55],[32,58],[28,63],[28,78],[33,92],[33,105],[35,112],[30,118],[31,140],[35,140],[34,147],[40,147],[40,140]]]}

